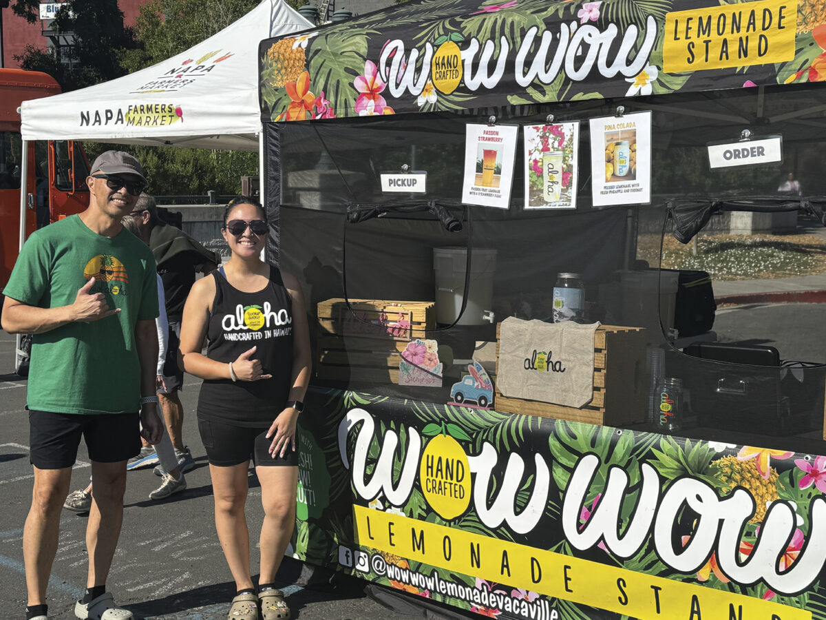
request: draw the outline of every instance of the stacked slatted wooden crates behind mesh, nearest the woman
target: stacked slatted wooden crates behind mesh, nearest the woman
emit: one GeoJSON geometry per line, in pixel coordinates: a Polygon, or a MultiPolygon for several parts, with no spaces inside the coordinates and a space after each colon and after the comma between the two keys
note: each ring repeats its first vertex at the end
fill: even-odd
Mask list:
{"type": "Polygon", "coordinates": [[[341,298],[318,304],[318,378],[397,384],[401,352],[435,327],[434,302],[350,299],[350,306],[341,298]]]}

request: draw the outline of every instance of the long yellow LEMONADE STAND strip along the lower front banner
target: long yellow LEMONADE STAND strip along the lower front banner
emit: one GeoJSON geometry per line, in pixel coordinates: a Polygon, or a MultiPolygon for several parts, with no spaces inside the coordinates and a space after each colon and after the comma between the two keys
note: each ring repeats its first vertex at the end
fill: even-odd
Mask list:
{"type": "MultiPolygon", "coordinates": [[[[633,570],[480,536],[354,506],[359,545],[463,575],[548,597],[607,609],[640,620],[811,620],[811,612],[743,594],[664,579],[633,570]]],[[[375,565],[373,565],[375,569],[375,565]]],[[[391,575],[387,568],[388,577],[391,575]]],[[[392,577],[403,579],[403,576],[392,577]]],[[[407,570],[409,579],[413,579],[407,570]]],[[[419,574],[415,575],[418,582],[419,574]]],[[[442,582],[438,584],[442,587],[442,582]]]]}

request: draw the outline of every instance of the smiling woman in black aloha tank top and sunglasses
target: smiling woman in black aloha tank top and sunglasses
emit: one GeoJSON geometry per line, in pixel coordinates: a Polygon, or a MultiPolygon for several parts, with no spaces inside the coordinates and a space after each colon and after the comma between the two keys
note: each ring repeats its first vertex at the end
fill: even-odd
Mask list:
{"type": "Polygon", "coordinates": [[[267,233],[258,203],[227,205],[221,234],[232,258],[192,286],[181,323],[183,368],[204,379],[198,430],[216,530],[237,589],[230,620],[256,620],[259,603],[262,620],[289,618],[274,581],[296,520],[296,425],[310,381],[310,332],[297,279],[259,258],[267,233]],[[264,509],[257,596],[244,517],[250,459],[264,509]]]}

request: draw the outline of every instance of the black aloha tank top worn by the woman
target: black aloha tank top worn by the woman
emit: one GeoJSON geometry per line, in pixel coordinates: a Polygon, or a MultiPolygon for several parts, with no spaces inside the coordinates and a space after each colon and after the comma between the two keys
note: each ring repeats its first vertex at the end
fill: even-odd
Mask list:
{"type": "Polygon", "coordinates": [[[258,293],[243,293],[214,271],[215,299],[207,324],[207,357],[230,362],[257,347],[263,374],[272,379],[237,381],[204,379],[197,415],[240,426],[268,426],[281,413],[292,374],[292,298],[281,272],[270,267],[269,283],[258,293]]]}

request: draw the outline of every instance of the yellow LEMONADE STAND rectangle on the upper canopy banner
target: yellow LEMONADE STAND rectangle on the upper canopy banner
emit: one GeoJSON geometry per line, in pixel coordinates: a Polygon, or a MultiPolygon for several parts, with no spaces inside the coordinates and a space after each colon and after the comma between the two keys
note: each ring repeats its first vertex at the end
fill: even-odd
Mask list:
{"type": "Polygon", "coordinates": [[[662,70],[674,74],[793,60],[796,20],[796,0],[667,13],[662,70]]]}

